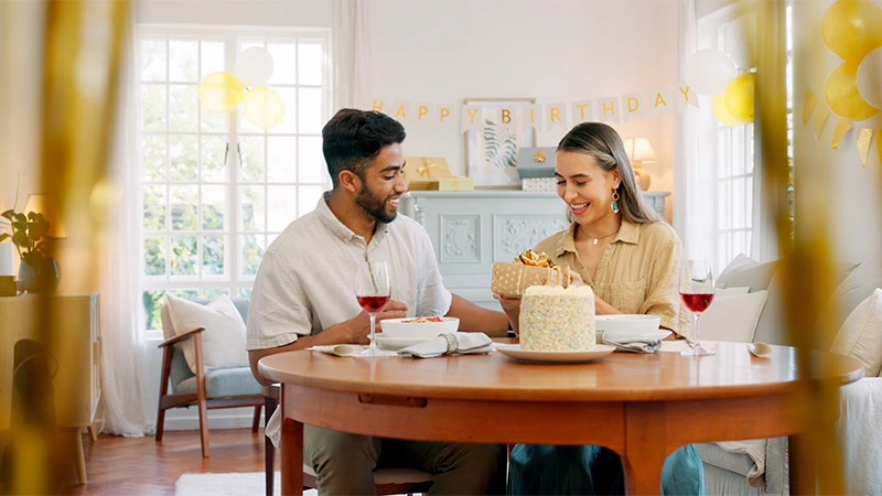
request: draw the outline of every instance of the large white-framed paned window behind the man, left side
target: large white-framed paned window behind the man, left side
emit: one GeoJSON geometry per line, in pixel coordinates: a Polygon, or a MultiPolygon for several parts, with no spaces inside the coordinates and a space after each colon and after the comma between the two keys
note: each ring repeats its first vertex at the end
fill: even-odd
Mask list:
{"type": "Polygon", "coordinates": [[[166,292],[249,296],[263,250],[327,190],[329,37],[327,30],[139,29],[147,330],[162,328],[166,292]],[[234,72],[250,46],[272,54],[268,84],[286,105],[268,131],[241,106],[213,114],[198,101],[202,77],[234,72]]]}

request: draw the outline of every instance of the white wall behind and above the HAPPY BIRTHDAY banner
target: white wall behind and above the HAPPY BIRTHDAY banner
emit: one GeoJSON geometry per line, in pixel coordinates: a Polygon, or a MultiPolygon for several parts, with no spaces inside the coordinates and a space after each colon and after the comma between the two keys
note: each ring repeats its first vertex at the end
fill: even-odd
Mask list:
{"type": "MultiPolygon", "coordinates": [[[[654,0],[375,0],[372,93],[411,101],[535,97],[566,103],[677,82],[677,3],[654,0]]],[[[674,118],[615,128],[649,139],[650,190],[670,191],[674,118]]],[[[556,145],[566,131],[540,132],[556,145]]],[[[412,127],[406,154],[447,157],[464,173],[462,134],[412,127]]]]}

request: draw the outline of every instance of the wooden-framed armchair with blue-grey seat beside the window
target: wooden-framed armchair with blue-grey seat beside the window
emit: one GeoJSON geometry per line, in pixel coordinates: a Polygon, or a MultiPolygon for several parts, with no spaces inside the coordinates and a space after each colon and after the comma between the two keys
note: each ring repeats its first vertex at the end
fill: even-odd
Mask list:
{"type": "MultiPolygon", "coordinates": [[[[243,313],[248,314],[248,300],[233,299],[234,304],[243,313]]],[[[165,424],[165,410],[178,407],[197,406],[200,411],[200,438],[202,439],[202,456],[208,457],[208,410],[218,408],[255,407],[251,431],[260,428],[260,410],[263,407],[263,395],[260,384],[251,375],[250,367],[224,368],[205,373],[202,357],[202,332],[205,327],[194,328],[178,336],[169,316],[166,305],[162,306],[162,330],[165,341],[160,343],[162,352],[162,375],[159,382],[159,412],[157,414],[157,442],[162,441],[165,424]],[[193,339],[196,374],[190,370],[180,344],[193,339]],[[172,392],[169,393],[171,382],[172,392]]],[[[269,417],[267,417],[269,419],[269,417]]]]}

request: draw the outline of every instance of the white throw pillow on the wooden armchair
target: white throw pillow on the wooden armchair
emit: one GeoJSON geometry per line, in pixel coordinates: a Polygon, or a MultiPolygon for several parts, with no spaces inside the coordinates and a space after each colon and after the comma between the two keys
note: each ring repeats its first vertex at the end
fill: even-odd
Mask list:
{"type": "MultiPolygon", "coordinates": [[[[214,368],[247,367],[248,352],[245,349],[245,321],[229,296],[222,294],[203,305],[166,294],[169,316],[174,333],[181,335],[196,327],[202,332],[202,359],[205,371],[214,368]]],[[[196,374],[196,355],[193,341],[183,343],[186,365],[196,374]]]]}

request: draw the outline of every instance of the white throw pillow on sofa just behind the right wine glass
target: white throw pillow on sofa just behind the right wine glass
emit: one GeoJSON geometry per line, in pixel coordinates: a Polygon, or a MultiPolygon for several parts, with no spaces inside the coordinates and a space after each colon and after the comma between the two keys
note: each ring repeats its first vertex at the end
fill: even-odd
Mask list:
{"type": "Polygon", "coordinates": [[[700,341],[751,343],[768,291],[733,296],[714,296],[701,314],[700,341]]]}

